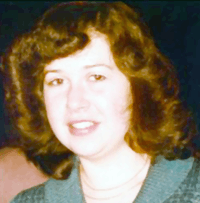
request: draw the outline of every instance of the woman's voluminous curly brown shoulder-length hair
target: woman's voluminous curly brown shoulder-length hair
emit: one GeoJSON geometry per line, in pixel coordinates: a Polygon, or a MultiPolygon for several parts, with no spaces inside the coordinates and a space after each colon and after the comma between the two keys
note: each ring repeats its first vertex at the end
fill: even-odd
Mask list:
{"type": "Polygon", "coordinates": [[[124,3],[89,1],[52,7],[4,56],[6,106],[27,157],[56,179],[70,174],[74,154],[57,140],[45,112],[44,67],[84,49],[91,29],[107,36],[116,65],[131,83],[133,113],[125,135],[129,146],[152,158],[198,157],[199,136],[179,99],[174,68],[140,15],[124,3]]]}

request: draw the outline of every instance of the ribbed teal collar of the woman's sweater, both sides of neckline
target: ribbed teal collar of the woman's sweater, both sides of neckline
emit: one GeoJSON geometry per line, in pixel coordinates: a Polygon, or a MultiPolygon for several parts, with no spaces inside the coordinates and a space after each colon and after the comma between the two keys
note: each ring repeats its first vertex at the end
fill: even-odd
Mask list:
{"type": "MultiPolygon", "coordinates": [[[[155,164],[150,167],[147,178],[134,202],[164,202],[186,178],[193,162],[193,158],[168,161],[163,157],[158,157],[155,164]]],[[[50,179],[45,183],[45,203],[85,202],[79,180],[78,157],[74,158],[74,163],[67,180],[50,179]]]]}

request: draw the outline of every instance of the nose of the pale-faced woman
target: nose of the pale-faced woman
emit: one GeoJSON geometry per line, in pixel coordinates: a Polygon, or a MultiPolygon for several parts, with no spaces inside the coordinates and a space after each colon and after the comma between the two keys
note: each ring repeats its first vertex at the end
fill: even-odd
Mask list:
{"type": "Polygon", "coordinates": [[[67,108],[69,111],[77,112],[89,108],[90,102],[86,92],[86,87],[81,84],[70,87],[67,95],[67,108]]]}

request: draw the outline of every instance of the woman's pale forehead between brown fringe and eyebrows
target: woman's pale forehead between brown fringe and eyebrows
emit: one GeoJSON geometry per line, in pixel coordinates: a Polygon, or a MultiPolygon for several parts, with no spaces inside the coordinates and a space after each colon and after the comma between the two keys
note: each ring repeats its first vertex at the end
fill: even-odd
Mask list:
{"type": "Polygon", "coordinates": [[[91,34],[91,41],[89,44],[75,54],[67,56],[65,58],[56,59],[45,67],[45,70],[51,70],[52,68],[63,66],[92,66],[95,64],[105,64],[108,66],[115,66],[113,55],[110,50],[110,45],[105,35],[103,34],[91,34]]]}

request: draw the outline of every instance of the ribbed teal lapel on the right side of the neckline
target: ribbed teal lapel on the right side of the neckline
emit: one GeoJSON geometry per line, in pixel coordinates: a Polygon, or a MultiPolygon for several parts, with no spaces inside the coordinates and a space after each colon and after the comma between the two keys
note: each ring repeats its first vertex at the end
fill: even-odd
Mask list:
{"type": "Polygon", "coordinates": [[[158,157],[134,203],[162,203],[167,200],[187,177],[194,158],[168,161],[158,157]]]}

